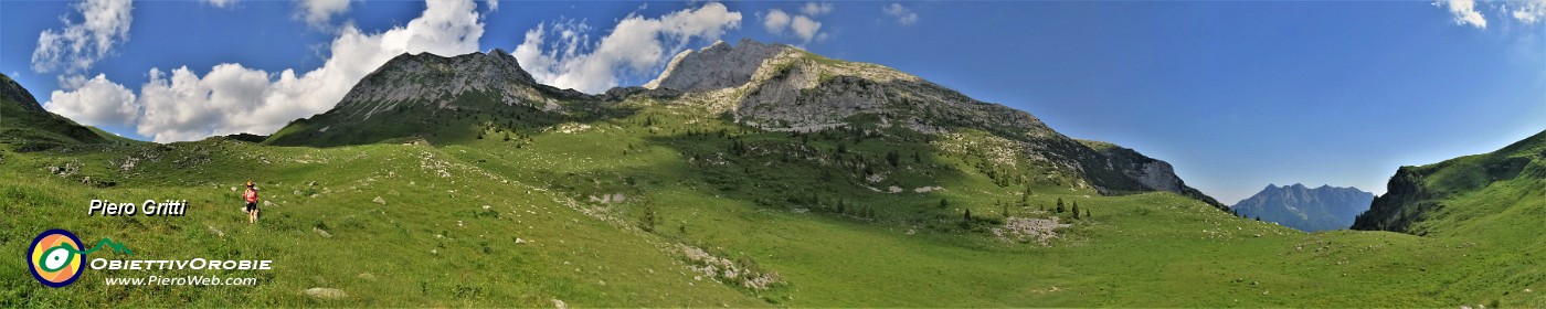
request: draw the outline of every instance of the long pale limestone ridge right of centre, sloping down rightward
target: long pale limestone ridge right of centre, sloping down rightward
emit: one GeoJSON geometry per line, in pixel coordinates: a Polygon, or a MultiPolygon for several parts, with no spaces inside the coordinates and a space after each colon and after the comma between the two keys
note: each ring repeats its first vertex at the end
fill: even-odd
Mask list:
{"type": "MultiPolygon", "coordinates": [[[[787,45],[742,40],[683,51],[645,88],[680,91],[680,102],[699,102],[710,113],[768,131],[903,128],[938,136],[948,144],[943,147],[960,151],[1002,150],[994,151],[1002,158],[996,164],[1028,161],[1061,185],[1102,193],[1164,190],[1223,207],[1187,187],[1164,161],[1121,147],[1101,151],[1030,113],[976,100],[887,66],[833,60],[787,45]],[[993,138],[960,134],[969,131],[993,138]],[[988,139],[993,145],[982,144],[988,139]]],[[[640,91],[615,91],[625,93],[640,91]]]]}

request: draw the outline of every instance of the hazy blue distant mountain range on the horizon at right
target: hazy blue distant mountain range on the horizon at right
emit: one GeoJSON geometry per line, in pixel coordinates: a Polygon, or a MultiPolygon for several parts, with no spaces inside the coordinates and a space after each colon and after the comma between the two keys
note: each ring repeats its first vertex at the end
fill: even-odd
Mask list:
{"type": "Polygon", "coordinates": [[[1303,184],[1283,187],[1268,184],[1262,192],[1229,209],[1246,218],[1260,218],[1297,230],[1317,232],[1348,229],[1353,226],[1353,218],[1368,210],[1371,201],[1374,201],[1374,193],[1356,187],[1320,185],[1309,188],[1303,184]]]}

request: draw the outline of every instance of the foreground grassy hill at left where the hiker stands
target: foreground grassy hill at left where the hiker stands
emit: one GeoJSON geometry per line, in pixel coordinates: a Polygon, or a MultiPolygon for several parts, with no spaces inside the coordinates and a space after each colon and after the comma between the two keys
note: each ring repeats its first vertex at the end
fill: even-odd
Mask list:
{"type": "Polygon", "coordinates": [[[575,304],[756,304],[717,284],[694,286],[649,235],[558,207],[540,190],[524,195],[529,187],[496,181],[427,147],[317,150],[198,142],[46,158],[6,153],[3,168],[3,250],[25,252],[32,233],[65,227],[93,241],[110,236],[144,258],[267,258],[275,260],[275,270],[230,273],[258,277],[257,287],[107,287],[100,280],[108,272],[88,270],[70,289],[49,289],[26,275],[23,261],[0,260],[8,272],[0,277],[6,290],[0,306],[552,306],[550,298],[575,304]],[[142,161],[111,188],[82,190],[71,178],[39,171],[80,161],[87,165],[82,175],[117,175],[102,162],[122,153],[162,158],[142,161]],[[451,176],[442,178],[441,170],[451,176]],[[266,199],[277,202],[258,226],[244,222],[232,190],[244,179],[257,179],[266,199]],[[374,196],[386,204],[371,202],[374,196]],[[184,218],[87,218],[91,198],[182,198],[193,207],[184,218]],[[516,238],[529,243],[516,244],[516,238]],[[337,287],[351,297],[317,303],[298,295],[309,287],[337,287]]]}

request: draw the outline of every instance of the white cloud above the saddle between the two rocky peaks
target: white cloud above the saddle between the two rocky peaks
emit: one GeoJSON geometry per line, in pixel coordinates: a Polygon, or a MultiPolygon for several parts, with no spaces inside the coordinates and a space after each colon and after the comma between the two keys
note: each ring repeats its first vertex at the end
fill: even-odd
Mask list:
{"type": "Polygon", "coordinates": [[[591,28],[580,22],[555,22],[526,31],[512,56],[538,82],[600,93],[617,87],[620,77],[654,74],[694,39],[717,40],[739,26],[741,12],[720,3],[659,19],[629,14],[598,42],[591,42],[591,28]]]}

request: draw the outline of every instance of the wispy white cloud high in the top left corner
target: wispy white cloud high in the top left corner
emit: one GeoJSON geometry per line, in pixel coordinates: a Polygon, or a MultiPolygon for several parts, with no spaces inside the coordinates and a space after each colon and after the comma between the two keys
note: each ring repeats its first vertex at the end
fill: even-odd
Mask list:
{"type": "Polygon", "coordinates": [[[82,22],[60,17],[63,29],[43,29],[32,49],[32,71],[63,70],[79,73],[108,56],[113,46],[128,40],[135,3],[130,0],[85,0],[74,5],[82,22]]]}

